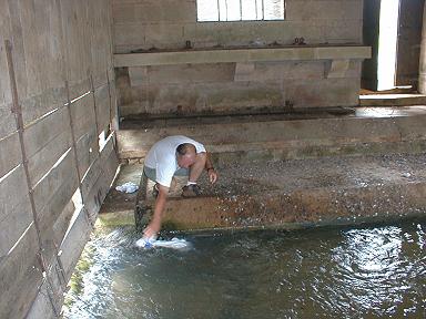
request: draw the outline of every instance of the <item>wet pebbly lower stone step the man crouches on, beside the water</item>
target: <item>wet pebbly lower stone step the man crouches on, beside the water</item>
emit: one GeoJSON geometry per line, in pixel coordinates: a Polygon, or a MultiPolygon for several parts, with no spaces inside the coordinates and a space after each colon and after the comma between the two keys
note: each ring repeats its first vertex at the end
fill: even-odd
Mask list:
{"type": "MultiPolygon", "coordinates": [[[[183,198],[171,191],[163,229],[301,228],[426,216],[426,154],[321,157],[229,165],[215,186],[183,198]]],[[[136,225],[154,207],[141,179],[136,225]]]]}

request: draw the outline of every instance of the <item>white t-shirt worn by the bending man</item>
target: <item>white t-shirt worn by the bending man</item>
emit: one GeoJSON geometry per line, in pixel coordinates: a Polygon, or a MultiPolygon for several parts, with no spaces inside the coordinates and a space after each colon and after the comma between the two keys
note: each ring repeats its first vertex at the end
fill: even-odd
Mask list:
{"type": "Polygon", "coordinates": [[[145,166],[155,169],[156,183],[170,187],[174,173],[180,168],[176,161],[176,148],[184,143],[194,145],[196,153],[205,152],[203,144],[183,135],[165,137],[156,142],[148,152],[145,166]]]}

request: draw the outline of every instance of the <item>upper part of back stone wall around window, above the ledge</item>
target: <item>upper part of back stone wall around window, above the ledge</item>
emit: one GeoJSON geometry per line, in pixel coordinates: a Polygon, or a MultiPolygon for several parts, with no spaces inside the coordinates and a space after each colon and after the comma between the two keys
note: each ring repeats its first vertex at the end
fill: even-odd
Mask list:
{"type": "Polygon", "coordinates": [[[284,21],[196,22],[196,1],[115,2],[113,4],[115,52],[134,49],[183,49],[250,45],[277,41],[292,44],[361,43],[363,1],[286,1],[284,21]],[[164,10],[163,7],[168,10],[164,10]]]}

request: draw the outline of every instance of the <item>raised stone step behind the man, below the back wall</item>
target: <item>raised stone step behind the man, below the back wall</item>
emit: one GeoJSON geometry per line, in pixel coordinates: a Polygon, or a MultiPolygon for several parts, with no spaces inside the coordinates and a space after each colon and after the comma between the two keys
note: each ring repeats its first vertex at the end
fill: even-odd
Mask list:
{"type": "Polygon", "coordinates": [[[121,160],[144,158],[153,143],[187,135],[216,165],[336,155],[418,153],[426,146],[426,106],[358,107],[352,114],[288,114],[139,121],[118,133],[121,160]],[[138,128],[135,128],[138,127],[138,128]]]}

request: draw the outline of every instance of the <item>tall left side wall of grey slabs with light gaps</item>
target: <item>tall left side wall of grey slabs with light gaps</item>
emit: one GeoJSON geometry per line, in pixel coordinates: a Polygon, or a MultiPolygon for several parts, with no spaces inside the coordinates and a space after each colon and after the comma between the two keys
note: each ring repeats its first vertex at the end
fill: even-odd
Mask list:
{"type": "Polygon", "coordinates": [[[0,1],[0,318],[57,318],[114,177],[109,0],[0,1]]]}

